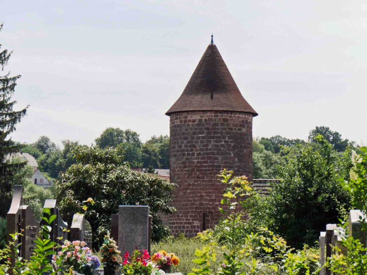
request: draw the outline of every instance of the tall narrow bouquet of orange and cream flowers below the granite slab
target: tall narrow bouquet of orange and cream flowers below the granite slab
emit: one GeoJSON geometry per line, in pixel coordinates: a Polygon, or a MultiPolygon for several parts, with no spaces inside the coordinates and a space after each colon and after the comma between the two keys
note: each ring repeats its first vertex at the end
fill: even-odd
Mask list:
{"type": "Polygon", "coordinates": [[[105,275],[115,274],[121,267],[121,251],[117,250],[117,248],[116,241],[110,238],[110,232],[107,231],[107,235],[100,247],[100,252],[102,252],[103,256],[102,262],[105,264],[105,275]]]}

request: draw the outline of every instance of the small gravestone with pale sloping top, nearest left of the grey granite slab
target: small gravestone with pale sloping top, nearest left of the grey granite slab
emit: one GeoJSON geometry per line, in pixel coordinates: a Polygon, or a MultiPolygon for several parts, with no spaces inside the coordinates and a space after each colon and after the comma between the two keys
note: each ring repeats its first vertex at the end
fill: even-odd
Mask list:
{"type": "Polygon", "coordinates": [[[83,214],[74,214],[70,227],[71,241],[84,241],[88,247],[92,247],[92,229],[83,214]]]}

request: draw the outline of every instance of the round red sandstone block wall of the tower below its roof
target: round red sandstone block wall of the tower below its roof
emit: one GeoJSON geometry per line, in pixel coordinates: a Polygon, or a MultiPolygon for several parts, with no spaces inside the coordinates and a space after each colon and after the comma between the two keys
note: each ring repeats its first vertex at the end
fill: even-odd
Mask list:
{"type": "Polygon", "coordinates": [[[220,170],[252,179],[252,114],[200,111],[170,115],[170,181],[178,185],[172,205],[173,235],[216,225],[224,186],[220,170]]]}

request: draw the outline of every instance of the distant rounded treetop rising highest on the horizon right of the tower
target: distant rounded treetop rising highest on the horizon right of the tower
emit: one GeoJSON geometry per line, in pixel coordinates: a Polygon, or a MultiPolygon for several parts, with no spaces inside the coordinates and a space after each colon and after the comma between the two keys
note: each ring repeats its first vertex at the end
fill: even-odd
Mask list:
{"type": "Polygon", "coordinates": [[[326,126],[316,126],[315,129],[311,130],[308,136],[309,141],[316,143],[318,135],[322,135],[338,152],[344,152],[348,146],[355,146],[355,142],[342,139],[340,133],[331,131],[326,126]]]}

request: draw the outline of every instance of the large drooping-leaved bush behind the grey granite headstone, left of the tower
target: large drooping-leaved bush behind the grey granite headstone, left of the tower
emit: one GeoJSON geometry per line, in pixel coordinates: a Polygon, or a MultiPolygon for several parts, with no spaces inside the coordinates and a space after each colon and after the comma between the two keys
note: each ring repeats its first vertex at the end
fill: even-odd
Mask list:
{"type": "Polygon", "coordinates": [[[123,161],[121,149],[76,147],[73,154],[77,163],[59,176],[55,198],[68,222],[79,212],[82,201],[91,197],[95,204],[85,213],[90,222],[94,240],[101,244],[110,229],[111,214],[118,213],[119,205],[148,205],[153,216],[153,239],[157,239],[161,225],[158,211],[171,214],[171,192],[175,185],[158,176],[131,170],[123,161]]]}

